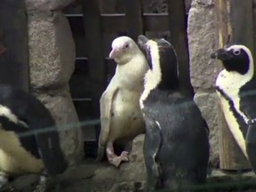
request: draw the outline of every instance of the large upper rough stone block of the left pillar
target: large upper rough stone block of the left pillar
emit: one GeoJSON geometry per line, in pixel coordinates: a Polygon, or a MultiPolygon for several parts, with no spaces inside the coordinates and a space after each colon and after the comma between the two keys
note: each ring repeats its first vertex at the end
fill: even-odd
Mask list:
{"type": "Polygon", "coordinates": [[[56,89],[68,84],[76,49],[65,16],[61,12],[28,14],[28,39],[31,88],[56,89]]]}

